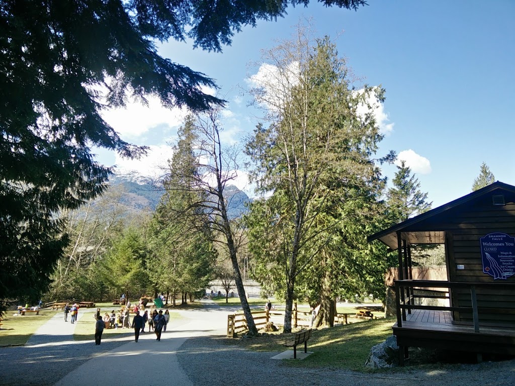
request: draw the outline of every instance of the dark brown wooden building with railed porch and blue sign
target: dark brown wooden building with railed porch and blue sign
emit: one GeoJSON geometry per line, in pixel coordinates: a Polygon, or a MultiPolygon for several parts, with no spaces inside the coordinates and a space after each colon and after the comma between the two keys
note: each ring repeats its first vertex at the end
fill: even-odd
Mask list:
{"type": "Polygon", "coordinates": [[[515,186],[495,182],[368,237],[398,251],[402,348],[515,355],[515,186]],[[412,244],[444,244],[447,280],[414,280],[412,244]],[[427,298],[447,303],[428,306],[427,298]]]}

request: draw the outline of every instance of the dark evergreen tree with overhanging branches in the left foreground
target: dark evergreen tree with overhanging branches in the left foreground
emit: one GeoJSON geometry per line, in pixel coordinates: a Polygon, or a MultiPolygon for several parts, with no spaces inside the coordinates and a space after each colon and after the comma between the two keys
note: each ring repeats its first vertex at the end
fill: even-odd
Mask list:
{"type": "MultiPolygon", "coordinates": [[[[195,47],[220,51],[242,25],[308,3],[2,1],[0,299],[36,300],[47,288],[69,241],[59,212],[99,195],[111,172],[94,161],[91,146],[128,157],[145,152],[118,136],[102,108],[124,106],[127,94],[194,111],[223,102],[201,91],[216,86],[212,79],[159,56],[156,41],[191,38],[195,47]]],[[[366,3],[324,4],[356,10],[366,3]]]]}

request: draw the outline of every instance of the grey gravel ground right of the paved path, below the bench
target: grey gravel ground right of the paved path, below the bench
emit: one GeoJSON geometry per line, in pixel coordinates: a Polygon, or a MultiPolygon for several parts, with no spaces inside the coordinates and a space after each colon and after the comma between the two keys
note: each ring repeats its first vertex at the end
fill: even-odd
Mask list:
{"type": "Polygon", "coordinates": [[[258,353],[220,344],[216,339],[188,339],[181,347],[178,361],[195,385],[237,384],[275,386],[277,384],[353,385],[353,386],[513,386],[515,360],[456,365],[453,370],[405,371],[363,374],[328,369],[290,367],[271,360],[279,352],[258,353]]]}

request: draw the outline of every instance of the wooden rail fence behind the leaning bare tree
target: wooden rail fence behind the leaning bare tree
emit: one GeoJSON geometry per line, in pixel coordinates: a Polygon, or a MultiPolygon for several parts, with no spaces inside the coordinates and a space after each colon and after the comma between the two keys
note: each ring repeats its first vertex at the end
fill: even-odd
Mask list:
{"type": "MultiPolygon", "coordinates": [[[[284,322],[284,311],[279,310],[256,310],[251,311],[252,318],[256,328],[261,329],[266,326],[268,322],[274,322],[276,324],[283,324],[284,322]]],[[[291,326],[293,327],[310,327],[311,326],[311,312],[302,312],[297,310],[291,311],[291,326]]],[[[376,319],[376,316],[363,316],[361,312],[352,313],[337,313],[334,316],[334,322],[340,324],[349,324],[358,322],[360,320],[376,319]]],[[[234,338],[235,335],[242,332],[248,331],[247,319],[243,311],[236,312],[234,314],[227,315],[227,337],[234,338]]]]}

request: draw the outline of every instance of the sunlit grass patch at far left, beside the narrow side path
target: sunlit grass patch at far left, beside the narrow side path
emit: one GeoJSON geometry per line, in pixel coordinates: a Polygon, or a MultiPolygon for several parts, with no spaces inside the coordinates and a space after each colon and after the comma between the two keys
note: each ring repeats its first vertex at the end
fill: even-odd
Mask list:
{"type": "Polygon", "coordinates": [[[13,316],[16,311],[8,311],[2,319],[0,329],[0,346],[23,345],[36,330],[45,324],[56,313],[62,311],[40,310],[39,315],[26,313],[13,316]]]}

